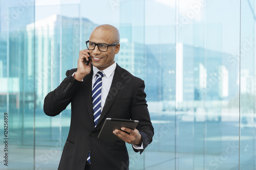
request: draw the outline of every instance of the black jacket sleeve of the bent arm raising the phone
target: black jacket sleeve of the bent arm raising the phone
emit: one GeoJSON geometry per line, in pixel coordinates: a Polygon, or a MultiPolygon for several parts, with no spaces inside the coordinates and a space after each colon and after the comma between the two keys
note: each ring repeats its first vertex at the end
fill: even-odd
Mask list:
{"type": "Polygon", "coordinates": [[[48,116],[56,116],[65,110],[70,104],[73,95],[82,82],[72,77],[74,70],[66,72],[66,78],[53,91],[46,95],[44,102],[44,112],[48,116]]]}

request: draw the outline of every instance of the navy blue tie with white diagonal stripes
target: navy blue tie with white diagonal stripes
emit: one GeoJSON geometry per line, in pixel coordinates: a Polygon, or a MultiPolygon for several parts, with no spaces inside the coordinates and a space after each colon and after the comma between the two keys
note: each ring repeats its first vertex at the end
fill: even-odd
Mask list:
{"type": "MultiPolygon", "coordinates": [[[[97,76],[96,81],[93,85],[93,90],[92,90],[94,127],[96,127],[100,117],[100,113],[101,113],[101,88],[102,88],[101,78],[104,76],[104,73],[101,71],[98,71],[96,73],[96,76],[97,76]]],[[[87,161],[91,163],[90,152],[89,152],[87,161]]]]}

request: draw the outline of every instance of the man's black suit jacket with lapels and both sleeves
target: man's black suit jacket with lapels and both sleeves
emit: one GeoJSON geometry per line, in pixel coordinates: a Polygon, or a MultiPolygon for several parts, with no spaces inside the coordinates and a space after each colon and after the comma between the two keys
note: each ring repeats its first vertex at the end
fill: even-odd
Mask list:
{"type": "MultiPolygon", "coordinates": [[[[66,72],[60,85],[47,94],[44,111],[58,115],[71,102],[70,131],[60,159],[60,170],[84,169],[91,151],[91,169],[129,169],[129,156],[124,141],[98,139],[105,118],[139,120],[143,148],[151,143],[154,129],[150,120],[144,92],[144,81],[117,65],[105,105],[96,128],[92,109],[92,75],[79,82],[72,77],[77,69],[66,72]]],[[[134,150],[138,152],[137,150],[134,150]]],[[[140,151],[140,153],[142,153],[140,151]]]]}

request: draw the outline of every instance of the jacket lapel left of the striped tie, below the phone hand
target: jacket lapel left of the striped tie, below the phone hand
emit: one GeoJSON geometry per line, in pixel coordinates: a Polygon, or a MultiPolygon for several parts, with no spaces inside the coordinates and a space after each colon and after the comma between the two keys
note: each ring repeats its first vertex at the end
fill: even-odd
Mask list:
{"type": "Polygon", "coordinates": [[[93,69],[91,69],[91,72],[89,75],[83,78],[83,92],[84,97],[86,98],[86,104],[88,108],[88,113],[92,119],[92,122],[94,122],[93,118],[93,102],[92,102],[92,77],[93,77],[93,69]]]}

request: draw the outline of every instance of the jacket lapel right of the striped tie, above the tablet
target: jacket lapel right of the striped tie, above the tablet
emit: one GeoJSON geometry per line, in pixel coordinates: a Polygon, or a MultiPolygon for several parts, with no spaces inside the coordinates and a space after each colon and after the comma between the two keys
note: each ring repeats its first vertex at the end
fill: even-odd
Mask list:
{"type": "Polygon", "coordinates": [[[101,120],[103,119],[103,117],[105,116],[105,114],[108,112],[111,105],[115,101],[116,96],[120,91],[120,88],[117,88],[117,87],[122,87],[123,85],[124,80],[121,75],[122,75],[122,69],[119,65],[116,65],[115,74],[112,80],[110,91],[108,93],[108,96],[106,97],[104,107],[101,111],[101,115],[98,120],[98,124],[101,122],[101,120]]]}

